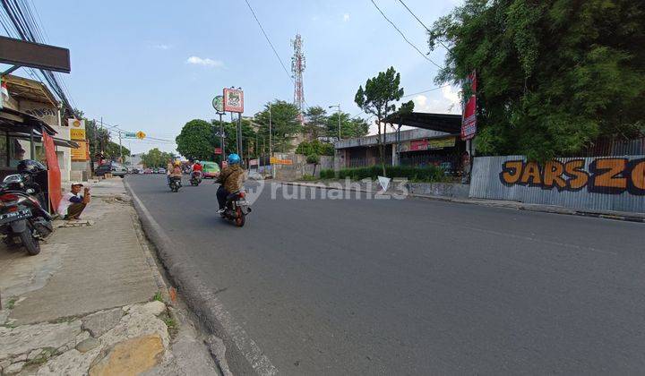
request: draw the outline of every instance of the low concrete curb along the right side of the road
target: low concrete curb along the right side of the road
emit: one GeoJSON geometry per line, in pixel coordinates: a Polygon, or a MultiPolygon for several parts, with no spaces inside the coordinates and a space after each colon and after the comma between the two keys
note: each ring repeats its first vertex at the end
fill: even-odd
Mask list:
{"type": "MultiPolygon", "coordinates": [[[[320,189],[339,189],[338,187],[330,187],[324,184],[314,184],[314,183],[298,183],[298,182],[280,182],[284,185],[293,185],[293,186],[304,186],[311,188],[320,188],[320,189]]],[[[373,191],[367,191],[365,189],[352,189],[352,188],[340,188],[346,191],[352,192],[366,192],[366,193],[376,193],[373,191]]],[[[579,210],[579,209],[570,209],[564,208],[562,206],[555,205],[538,205],[538,204],[527,204],[522,202],[503,202],[503,201],[494,201],[494,200],[473,200],[473,199],[458,199],[453,197],[444,197],[444,196],[432,196],[427,194],[418,194],[418,193],[409,193],[408,197],[414,197],[417,199],[426,199],[434,201],[444,201],[444,202],[456,202],[470,205],[482,205],[492,208],[505,208],[505,209],[518,209],[518,210],[527,210],[527,211],[539,211],[543,213],[554,213],[554,214],[564,214],[571,216],[581,216],[581,217],[590,217],[590,218],[603,218],[603,219],[613,219],[613,220],[623,220],[627,222],[638,222],[645,223],[645,214],[639,213],[614,213],[614,212],[601,212],[601,211],[590,211],[590,210],[579,210]]]]}

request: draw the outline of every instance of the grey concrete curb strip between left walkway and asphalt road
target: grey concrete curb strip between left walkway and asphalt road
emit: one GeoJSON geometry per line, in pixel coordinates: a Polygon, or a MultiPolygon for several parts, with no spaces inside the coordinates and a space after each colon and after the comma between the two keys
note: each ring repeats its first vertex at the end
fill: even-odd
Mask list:
{"type": "Polygon", "coordinates": [[[233,374],[276,374],[278,369],[224,309],[216,293],[195,277],[194,271],[185,260],[173,252],[178,245],[172,242],[157,221],[152,218],[130,184],[125,182],[125,188],[133,198],[133,205],[139,214],[145,234],[150,242],[155,244],[159,260],[167,269],[168,276],[177,287],[177,291],[182,294],[195,316],[202,320],[204,327],[212,335],[223,340],[226,346],[226,363],[231,372],[233,374]]]}

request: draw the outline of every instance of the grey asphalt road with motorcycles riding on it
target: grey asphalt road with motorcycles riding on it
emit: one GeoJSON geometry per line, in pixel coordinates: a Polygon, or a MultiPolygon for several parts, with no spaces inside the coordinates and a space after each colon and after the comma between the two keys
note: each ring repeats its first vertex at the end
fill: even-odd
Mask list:
{"type": "Polygon", "coordinates": [[[127,181],[282,374],[645,370],[642,224],[267,185],[237,228],[211,181],[127,181]]]}

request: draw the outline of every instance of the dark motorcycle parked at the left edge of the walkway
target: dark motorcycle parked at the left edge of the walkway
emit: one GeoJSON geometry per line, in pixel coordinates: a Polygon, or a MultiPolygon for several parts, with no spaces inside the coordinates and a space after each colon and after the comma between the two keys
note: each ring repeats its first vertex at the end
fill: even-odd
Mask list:
{"type": "Polygon", "coordinates": [[[39,240],[54,231],[52,218],[39,200],[30,193],[13,190],[24,185],[21,175],[9,175],[0,185],[0,234],[6,235],[7,244],[20,238],[30,255],[39,254],[39,240]]]}

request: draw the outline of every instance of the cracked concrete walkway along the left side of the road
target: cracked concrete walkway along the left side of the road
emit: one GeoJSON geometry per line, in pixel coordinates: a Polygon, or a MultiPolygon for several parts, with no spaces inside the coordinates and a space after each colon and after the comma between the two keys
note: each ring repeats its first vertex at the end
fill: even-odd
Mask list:
{"type": "Polygon", "coordinates": [[[0,247],[0,373],[219,373],[185,312],[161,302],[123,180],[90,185],[82,221],[56,220],[38,255],[0,247]]]}

